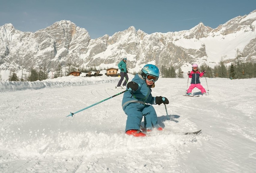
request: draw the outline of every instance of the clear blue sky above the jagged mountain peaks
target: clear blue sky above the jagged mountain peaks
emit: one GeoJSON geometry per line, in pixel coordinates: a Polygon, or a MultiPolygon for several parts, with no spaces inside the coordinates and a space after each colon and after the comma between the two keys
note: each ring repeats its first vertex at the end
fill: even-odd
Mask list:
{"type": "Polygon", "coordinates": [[[35,32],[70,20],[92,39],[130,26],[147,34],[211,28],[256,10],[256,0],[0,0],[0,26],[35,32]]]}

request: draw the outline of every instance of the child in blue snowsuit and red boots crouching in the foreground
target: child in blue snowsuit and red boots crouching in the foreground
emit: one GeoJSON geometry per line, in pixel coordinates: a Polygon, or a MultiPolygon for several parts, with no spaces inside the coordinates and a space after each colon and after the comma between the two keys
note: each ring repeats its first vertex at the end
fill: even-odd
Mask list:
{"type": "Polygon", "coordinates": [[[141,132],[140,123],[144,116],[144,128],[151,131],[153,128],[163,130],[157,124],[157,113],[151,104],[169,104],[167,98],[163,101],[163,97],[153,97],[151,95],[151,87],[159,78],[159,69],[152,64],[146,64],[141,75],[136,74],[131,82],[127,84],[130,92],[123,94],[122,107],[127,115],[125,133],[136,137],[146,136],[141,132]]]}

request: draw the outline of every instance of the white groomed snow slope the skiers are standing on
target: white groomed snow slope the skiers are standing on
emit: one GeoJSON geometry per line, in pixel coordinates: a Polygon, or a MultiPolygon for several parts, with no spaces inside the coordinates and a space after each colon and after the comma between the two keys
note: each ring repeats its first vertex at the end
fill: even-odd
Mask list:
{"type": "Polygon", "coordinates": [[[124,134],[123,95],[66,117],[121,92],[109,89],[119,79],[1,81],[0,172],[255,172],[255,78],[207,78],[209,95],[194,98],[187,78],[159,78],[152,95],[169,99],[171,120],[154,105],[166,130],[144,138],[124,134]]]}

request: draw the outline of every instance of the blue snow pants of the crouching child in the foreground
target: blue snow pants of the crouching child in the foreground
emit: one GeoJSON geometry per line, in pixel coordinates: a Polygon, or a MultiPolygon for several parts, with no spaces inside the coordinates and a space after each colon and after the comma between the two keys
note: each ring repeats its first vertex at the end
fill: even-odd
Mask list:
{"type": "Polygon", "coordinates": [[[144,116],[144,127],[147,129],[153,129],[153,127],[158,127],[157,124],[157,113],[154,107],[150,104],[142,103],[130,103],[124,108],[124,113],[127,115],[126,127],[127,130],[139,130],[142,117],[144,116]]]}

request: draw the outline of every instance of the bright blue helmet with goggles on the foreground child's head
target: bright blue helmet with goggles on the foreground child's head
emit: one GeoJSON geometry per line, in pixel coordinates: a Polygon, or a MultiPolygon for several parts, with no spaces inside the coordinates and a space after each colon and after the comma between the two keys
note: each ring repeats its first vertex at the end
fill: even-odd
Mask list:
{"type": "Polygon", "coordinates": [[[156,82],[159,78],[159,69],[153,64],[146,64],[141,69],[141,76],[143,79],[148,79],[148,81],[156,82]]]}

